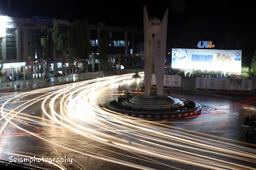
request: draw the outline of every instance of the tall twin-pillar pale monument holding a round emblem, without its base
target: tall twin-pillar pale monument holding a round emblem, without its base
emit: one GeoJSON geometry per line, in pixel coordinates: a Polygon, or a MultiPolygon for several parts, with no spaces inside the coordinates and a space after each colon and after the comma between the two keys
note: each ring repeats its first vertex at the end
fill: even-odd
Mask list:
{"type": "Polygon", "coordinates": [[[157,95],[163,95],[164,60],[166,57],[166,36],[168,25],[168,8],[163,20],[156,17],[148,18],[147,8],[143,8],[144,20],[144,52],[145,52],[145,94],[150,96],[151,79],[154,66],[156,74],[157,95]]]}

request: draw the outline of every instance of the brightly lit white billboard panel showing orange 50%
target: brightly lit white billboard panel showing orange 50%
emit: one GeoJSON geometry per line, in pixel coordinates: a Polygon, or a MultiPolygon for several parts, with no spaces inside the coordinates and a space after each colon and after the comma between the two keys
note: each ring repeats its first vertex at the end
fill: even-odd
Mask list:
{"type": "Polygon", "coordinates": [[[241,73],[242,50],[172,48],[172,68],[241,73]]]}

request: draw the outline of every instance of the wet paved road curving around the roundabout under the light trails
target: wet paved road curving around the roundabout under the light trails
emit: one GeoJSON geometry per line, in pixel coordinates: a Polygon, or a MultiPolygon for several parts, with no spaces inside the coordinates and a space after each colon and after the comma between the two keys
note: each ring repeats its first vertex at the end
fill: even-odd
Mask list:
{"type": "MultiPolygon", "coordinates": [[[[244,121],[246,115],[253,113],[253,108],[255,108],[254,98],[246,100],[241,96],[219,96],[172,90],[170,95],[173,97],[188,97],[202,104],[204,106],[202,115],[186,119],[159,119],[148,122],[148,120],[141,121],[136,118],[115,116],[113,113],[101,113],[97,106],[92,108],[93,112],[89,111],[86,115],[79,114],[80,111],[86,112],[91,108],[88,102],[93,101],[93,96],[86,98],[90,94],[96,95],[99,93],[100,96],[98,97],[105,101],[115,99],[114,90],[118,87],[118,84],[124,84],[127,87],[133,86],[131,81],[120,80],[106,85],[104,89],[97,89],[97,85],[100,85],[100,83],[90,86],[89,82],[86,84],[77,82],[76,85],[70,85],[71,89],[69,89],[68,85],[61,85],[60,87],[52,87],[52,89],[48,90],[38,89],[29,94],[26,92],[10,93],[9,96],[3,94],[1,96],[2,101],[11,100],[1,108],[19,107],[16,110],[19,114],[13,117],[12,122],[15,122],[15,124],[4,128],[5,136],[3,136],[2,132],[3,137],[0,140],[4,144],[2,145],[4,147],[2,154],[3,152],[9,153],[9,157],[18,156],[13,153],[18,153],[20,157],[28,154],[34,154],[38,157],[64,157],[64,155],[67,155],[69,158],[74,159],[72,167],[79,166],[84,167],[84,169],[127,169],[127,166],[109,163],[108,160],[100,161],[99,159],[102,159],[102,157],[96,158],[95,153],[97,155],[100,154],[100,156],[104,155],[104,157],[108,156],[109,159],[113,157],[118,160],[131,161],[140,166],[152,164],[150,167],[156,169],[170,169],[170,166],[177,166],[180,169],[184,169],[184,167],[187,167],[186,169],[188,167],[189,169],[205,169],[200,167],[202,164],[198,164],[196,168],[191,165],[189,166],[189,162],[186,162],[189,158],[200,159],[200,162],[203,160],[211,162],[212,160],[207,160],[206,158],[212,157],[234,162],[234,157],[240,157],[236,154],[239,153],[241,147],[243,147],[243,152],[251,152],[255,155],[253,149],[255,148],[255,137],[252,136],[246,139],[244,132],[240,129],[241,122],[244,121]],[[83,91],[83,93],[75,92],[76,89],[79,92],[83,91]],[[42,105],[44,99],[46,101],[42,105]],[[76,107],[70,108],[72,111],[69,111],[69,113],[72,114],[69,116],[63,110],[64,117],[59,106],[61,103],[65,104],[66,99],[69,102],[72,101],[76,107]],[[82,107],[77,105],[80,103],[80,99],[83,102],[82,107]],[[38,101],[35,102],[36,100],[38,101]],[[49,104],[51,104],[51,107],[49,107],[49,104]],[[41,105],[45,108],[45,113],[43,110],[36,109],[40,108],[41,105]],[[25,108],[27,106],[28,108],[25,108]],[[77,108],[84,109],[77,110],[77,108]],[[55,111],[58,114],[54,114],[55,111]],[[51,114],[47,115],[47,113],[51,114]],[[14,128],[14,125],[18,125],[19,128],[26,131],[14,128]],[[81,128],[83,131],[80,131],[81,128]],[[89,128],[90,131],[84,128],[89,128]],[[120,131],[120,128],[122,128],[122,131],[120,131]],[[84,136],[84,132],[93,134],[92,138],[88,138],[88,135],[84,136]],[[102,134],[101,132],[104,133],[102,134]],[[108,136],[105,136],[107,134],[108,136]],[[250,139],[252,140],[250,141],[250,139]],[[51,142],[49,143],[49,141],[51,142]],[[101,141],[101,144],[99,141],[101,141]],[[129,142],[126,143],[125,141],[129,142]],[[102,144],[103,142],[104,145],[102,144]],[[200,146],[196,145],[196,143],[200,144],[200,146]],[[116,148],[116,146],[118,147],[116,148]],[[186,150],[184,150],[184,147],[186,147],[186,150]],[[72,148],[72,151],[70,148],[72,148]],[[209,148],[211,150],[208,150],[209,148]],[[224,148],[225,150],[223,150],[224,148]],[[177,152],[174,152],[174,150],[177,152]],[[234,150],[237,152],[233,153],[234,150]],[[186,155],[185,151],[194,153],[196,157],[194,157],[195,155],[186,155]],[[162,159],[163,155],[156,154],[159,152],[166,153],[165,159],[162,159]],[[126,155],[132,157],[126,157],[126,155]],[[171,158],[170,155],[175,155],[182,159],[181,164],[179,161],[171,158]],[[203,155],[204,157],[202,157],[203,155]],[[232,158],[231,156],[234,157],[232,158]],[[148,162],[147,160],[150,161],[148,162]],[[152,160],[154,162],[151,162],[152,160]],[[161,164],[157,164],[157,161],[161,162],[161,164]],[[186,166],[186,164],[188,165],[186,166]]],[[[2,113],[6,114],[5,112],[2,113]]],[[[244,157],[244,159],[247,158],[244,157]]],[[[8,160],[8,157],[6,160],[8,160]]],[[[217,161],[212,163],[225,166],[223,162],[217,161]]],[[[252,166],[250,165],[252,162],[248,164],[244,160],[236,160],[236,164],[252,166]]],[[[256,162],[253,163],[253,165],[255,164],[256,162]]],[[[65,167],[68,167],[68,162],[66,162],[65,167]]],[[[136,169],[136,167],[130,169],[136,169]]],[[[211,168],[209,167],[209,169],[211,168]]]]}

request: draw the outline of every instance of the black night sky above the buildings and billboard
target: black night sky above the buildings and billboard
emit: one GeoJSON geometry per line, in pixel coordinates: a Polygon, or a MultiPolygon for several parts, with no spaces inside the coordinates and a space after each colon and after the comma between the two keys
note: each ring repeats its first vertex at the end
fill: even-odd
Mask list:
{"type": "Polygon", "coordinates": [[[163,19],[168,8],[168,46],[197,48],[198,41],[211,40],[217,49],[243,50],[250,62],[256,49],[253,1],[67,1],[0,0],[0,10],[13,17],[39,15],[63,20],[86,20],[90,24],[131,25],[143,29],[143,6],[148,17],[163,19]]]}

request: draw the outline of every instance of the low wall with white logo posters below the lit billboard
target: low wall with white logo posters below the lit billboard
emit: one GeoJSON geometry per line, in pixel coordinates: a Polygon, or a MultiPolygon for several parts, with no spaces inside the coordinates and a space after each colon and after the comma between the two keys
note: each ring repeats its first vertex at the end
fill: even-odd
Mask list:
{"type": "MultiPolygon", "coordinates": [[[[236,78],[205,78],[164,75],[164,89],[188,90],[210,93],[250,94],[256,89],[256,80],[236,78]]],[[[156,88],[156,75],[152,74],[151,85],[156,88]]]]}

